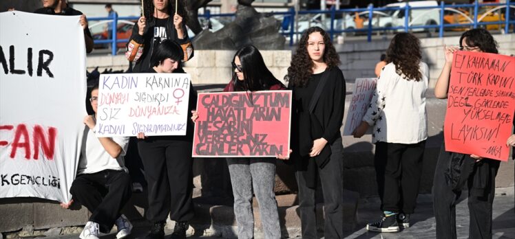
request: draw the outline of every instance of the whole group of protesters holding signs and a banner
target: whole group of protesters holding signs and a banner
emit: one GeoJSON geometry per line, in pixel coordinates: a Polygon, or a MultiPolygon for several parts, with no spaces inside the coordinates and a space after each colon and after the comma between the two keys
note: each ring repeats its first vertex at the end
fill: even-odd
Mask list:
{"type": "MultiPolygon", "coordinates": [[[[42,0],[41,14],[82,15],[87,52],[92,38],[85,16],[67,6],[64,0],[42,0]]],[[[185,21],[184,1],[145,0],[143,16],[134,25],[125,56],[134,62],[135,73],[185,73],[182,63],[193,57],[185,21]],[[176,5],[177,3],[177,5],[176,5]],[[175,12],[175,13],[174,13],[175,12]]],[[[497,54],[492,35],[483,29],[469,30],[459,47],[444,47],[445,64],[434,93],[447,98],[453,53],[462,50],[497,54]]],[[[377,89],[354,137],[372,128],[375,144],[375,170],[381,199],[381,218],[369,223],[369,231],[395,232],[410,227],[417,205],[428,113],[425,93],[429,68],[422,61],[421,43],[410,33],[395,34],[380,69],[377,89]],[[386,106],[388,102],[388,106],[386,106]],[[386,120],[388,118],[388,121],[386,120]],[[387,133],[388,132],[388,133],[387,133]]],[[[315,192],[322,185],[324,196],[324,237],[344,237],[343,171],[341,122],[344,118],[346,82],[339,69],[330,36],[320,27],[311,27],[299,40],[282,84],[266,67],[253,45],[238,49],[233,56],[232,78],[224,91],[293,92],[291,150],[277,155],[295,167],[298,183],[302,238],[318,238],[315,192]]],[[[132,194],[132,183],[124,156],[129,141],[136,141],[138,156],[145,168],[148,207],[145,212],[151,229],[146,238],[164,238],[167,217],[176,221],[171,238],[186,238],[193,219],[193,173],[191,148],[193,127],[199,117],[194,109],[196,91],[189,86],[187,133],[183,136],[96,137],[98,85],[90,91],[93,115],[83,123],[81,159],[70,193],[68,208],[81,203],[92,212],[80,238],[98,238],[114,225],[116,238],[131,234],[132,224],[120,213],[132,194]]],[[[515,146],[515,135],[506,139],[515,146]]],[[[235,157],[227,159],[234,196],[238,238],[254,237],[253,195],[260,207],[265,238],[281,238],[275,200],[276,158],[235,157]]],[[[477,155],[445,151],[442,145],[433,182],[437,238],[456,238],[455,206],[467,183],[470,209],[470,238],[492,238],[492,203],[499,161],[477,155]],[[474,190],[472,190],[474,189],[474,190]]]]}

